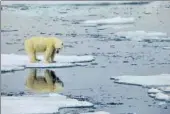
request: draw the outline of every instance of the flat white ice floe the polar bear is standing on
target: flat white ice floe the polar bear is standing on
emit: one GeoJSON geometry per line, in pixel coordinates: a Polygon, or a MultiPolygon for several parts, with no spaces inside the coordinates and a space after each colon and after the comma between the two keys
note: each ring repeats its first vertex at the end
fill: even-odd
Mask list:
{"type": "Polygon", "coordinates": [[[93,56],[64,56],[57,55],[54,60],[56,63],[43,63],[43,56],[38,56],[41,61],[38,63],[30,63],[27,55],[17,54],[1,54],[1,71],[21,70],[28,67],[39,68],[61,68],[85,65],[85,62],[91,62],[95,58],[93,56]]]}

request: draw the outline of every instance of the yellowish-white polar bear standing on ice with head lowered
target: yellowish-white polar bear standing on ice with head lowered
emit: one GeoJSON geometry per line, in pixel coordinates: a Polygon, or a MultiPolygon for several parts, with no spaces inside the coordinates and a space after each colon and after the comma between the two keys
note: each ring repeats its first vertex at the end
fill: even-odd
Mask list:
{"type": "Polygon", "coordinates": [[[44,53],[44,62],[52,63],[55,54],[63,48],[63,42],[56,37],[31,37],[25,40],[24,47],[31,63],[39,61],[37,53],[44,53]]]}

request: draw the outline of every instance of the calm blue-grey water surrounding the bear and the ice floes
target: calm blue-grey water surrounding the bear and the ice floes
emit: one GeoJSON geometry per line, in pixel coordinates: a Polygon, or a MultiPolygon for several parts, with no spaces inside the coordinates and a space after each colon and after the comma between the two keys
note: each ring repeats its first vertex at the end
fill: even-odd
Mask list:
{"type": "MultiPolygon", "coordinates": [[[[148,5],[148,4],[144,4],[148,5]]],[[[25,54],[23,41],[31,36],[56,36],[63,39],[65,55],[93,55],[85,67],[53,69],[64,83],[61,94],[92,102],[93,108],[62,109],[61,114],[103,110],[111,114],[169,114],[170,104],[159,106],[147,89],[115,84],[111,76],[170,73],[167,41],[114,40],[113,33],[126,30],[165,32],[170,36],[170,3],[146,13],[143,4],[125,5],[19,5],[1,11],[1,53],[25,54]],[[109,25],[85,26],[86,20],[134,17],[128,28],[109,25]]],[[[152,8],[153,7],[153,8],[152,8]]],[[[27,93],[29,70],[1,75],[1,94],[27,93]]],[[[43,74],[44,69],[38,69],[43,74]]]]}

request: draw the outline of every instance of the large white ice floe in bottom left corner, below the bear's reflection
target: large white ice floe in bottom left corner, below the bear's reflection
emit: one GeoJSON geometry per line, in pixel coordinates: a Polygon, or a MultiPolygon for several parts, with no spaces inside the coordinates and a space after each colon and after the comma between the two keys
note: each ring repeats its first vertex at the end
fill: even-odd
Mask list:
{"type": "Polygon", "coordinates": [[[91,107],[92,103],[53,94],[46,96],[1,96],[2,114],[54,113],[60,108],[91,107]]]}

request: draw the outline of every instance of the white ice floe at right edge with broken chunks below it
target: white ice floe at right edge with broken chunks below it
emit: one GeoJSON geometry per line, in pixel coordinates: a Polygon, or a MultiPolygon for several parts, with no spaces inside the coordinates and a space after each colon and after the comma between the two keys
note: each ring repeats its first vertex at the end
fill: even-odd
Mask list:
{"type": "Polygon", "coordinates": [[[118,76],[112,77],[115,83],[139,85],[150,88],[148,94],[157,100],[170,101],[170,74],[153,76],[118,76]]]}

